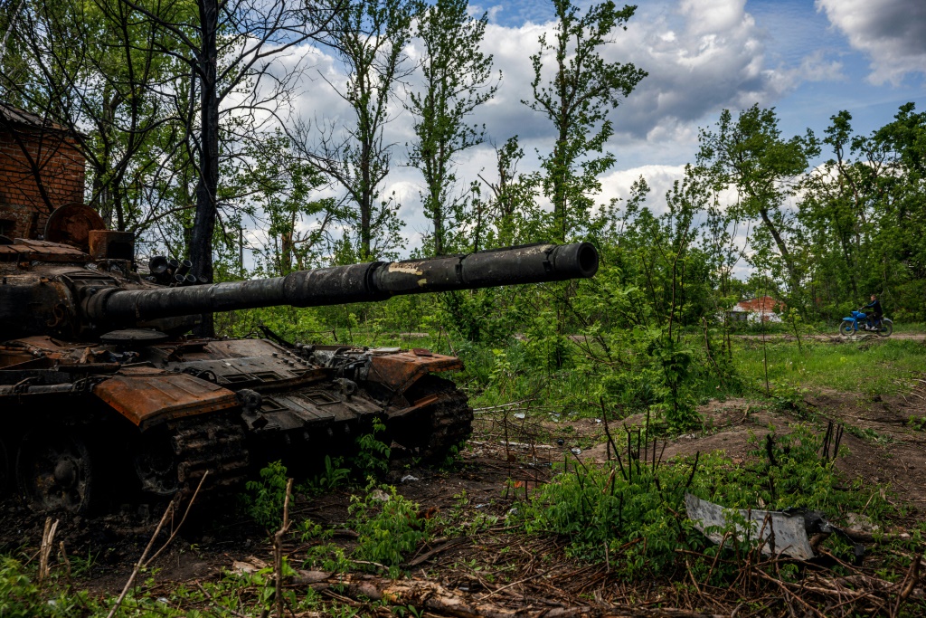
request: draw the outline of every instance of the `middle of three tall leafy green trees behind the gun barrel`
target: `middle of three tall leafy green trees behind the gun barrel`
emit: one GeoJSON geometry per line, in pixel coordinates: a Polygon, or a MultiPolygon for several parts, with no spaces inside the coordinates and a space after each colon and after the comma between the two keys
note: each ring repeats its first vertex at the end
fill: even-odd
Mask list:
{"type": "MultiPolygon", "coordinates": [[[[421,170],[424,211],[432,221],[432,250],[442,255],[447,235],[462,216],[461,197],[452,195],[457,176],[454,158],[482,144],[484,129],[466,118],[491,99],[492,57],[479,47],[486,14],[469,17],[467,0],[437,0],[419,8],[417,35],[423,47],[421,92],[408,95],[406,108],[414,117],[417,139],[410,147],[411,164],[421,170]]],[[[501,79],[501,71],[499,71],[501,79]]]]}

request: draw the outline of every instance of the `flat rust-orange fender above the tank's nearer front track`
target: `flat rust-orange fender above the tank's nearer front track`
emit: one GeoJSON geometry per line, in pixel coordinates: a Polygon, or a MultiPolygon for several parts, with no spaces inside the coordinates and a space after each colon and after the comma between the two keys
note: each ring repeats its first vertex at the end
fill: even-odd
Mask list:
{"type": "Polygon", "coordinates": [[[94,395],[142,431],[184,416],[239,406],[231,390],[188,373],[117,375],[95,385],[94,395]]]}

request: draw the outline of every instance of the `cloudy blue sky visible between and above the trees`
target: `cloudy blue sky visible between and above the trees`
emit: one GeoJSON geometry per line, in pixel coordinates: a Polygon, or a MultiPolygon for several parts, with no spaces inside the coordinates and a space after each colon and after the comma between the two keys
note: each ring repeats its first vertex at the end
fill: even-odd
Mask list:
{"type": "MultiPolygon", "coordinates": [[[[494,99],[472,119],[485,124],[487,143],[457,159],[466,183],[481,172],[491,177],[493,145],[508,137],[519,136],[525,171],[537,168],[537,152],[549,152],[554,139],[549,121],[520,102],[531,95],[538,36],[553,31],[552,4],[513,0],[471,8],[488,15],[483,51],[502,78],[494,99]]],[[[415,54],[414,44],[409,51],[415,54]]],[[[602,55],[649,75],[612,113],[616,132],[607,150],[617,164],[602,177],[597,201],[627,197],[642,175],[652,188],[649,203],[659,209],[684,164],[694,161],[698,128],[715,123],[724,108],[735,114],[753,104],[775,107],[784,137],[807,128],[821,135],[843,109],[857,132],[869,133],[907,102],[926,108],[926,0],[641,0],[627,30],[602,55]]],[[[311,69],[294,112],[315,122],[349,120],[333,90],[344,84],[343,69],[311,47],[284,62],[299,57],[311,69]]],[[[428,227],[420,174],[405,155],[412,137],[411,120],[396,101],[385,135],[395,145],[394,167],[384,193],[395,192],[402,204],[407,249],[419,246],[428,227]]]]}

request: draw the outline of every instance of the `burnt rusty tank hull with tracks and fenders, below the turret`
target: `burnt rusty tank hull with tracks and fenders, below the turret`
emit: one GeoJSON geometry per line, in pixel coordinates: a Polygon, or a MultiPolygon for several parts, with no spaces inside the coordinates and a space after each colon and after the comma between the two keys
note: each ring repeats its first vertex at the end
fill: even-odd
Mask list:
{"type": "Polygon", "coordinates": [[[309,473],[326,456],[351,455],[374,420],[395,458],[442,460],[469,437],[466,396],[435,375],[461,364],[426,350],[59,344],[30,337],[0,350],[0,482],[36,510],[197,488],[198,502],[221,498],[271,460],[309,473]],[[127,354],[133,362],[106,362],[127,354]]]}

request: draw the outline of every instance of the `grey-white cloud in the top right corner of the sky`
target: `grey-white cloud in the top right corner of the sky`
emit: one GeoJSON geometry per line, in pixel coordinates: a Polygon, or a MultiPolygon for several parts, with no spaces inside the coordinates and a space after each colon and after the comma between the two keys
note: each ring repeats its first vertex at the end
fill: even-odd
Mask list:
{"type": "Polygon", "coordinates": [[[833,26],[871,59],[869,81],[898,84],[926,72],[926,2],[923,0],[817,0],[833,26]]]}

